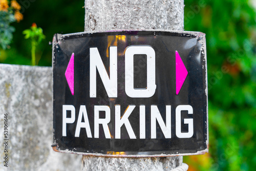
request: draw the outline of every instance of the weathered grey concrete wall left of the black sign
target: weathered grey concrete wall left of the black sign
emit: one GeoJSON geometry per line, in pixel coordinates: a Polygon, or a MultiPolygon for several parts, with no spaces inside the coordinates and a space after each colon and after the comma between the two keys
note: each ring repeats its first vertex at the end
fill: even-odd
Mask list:
{"type": "Polygon", "coordinates": [[[0,144],[8,114],[8,168],[0,170],[80,170],[81,156],[53,151],[52,68],[0,65],[0,144]]]}

